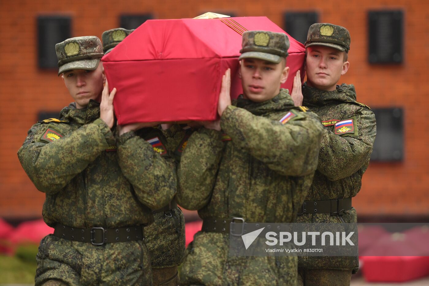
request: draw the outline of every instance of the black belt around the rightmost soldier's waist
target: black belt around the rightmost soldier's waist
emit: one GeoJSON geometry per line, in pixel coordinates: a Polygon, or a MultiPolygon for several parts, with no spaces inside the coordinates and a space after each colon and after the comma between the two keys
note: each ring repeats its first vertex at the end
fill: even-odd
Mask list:
{"type": "Polygon", "coordinates": [[[298,215],[306,213],[330,213],[333,215],[342,214],[344,210],[351,209],[351,198],[334,199],[327,201],[304,201],[298,215]]]}

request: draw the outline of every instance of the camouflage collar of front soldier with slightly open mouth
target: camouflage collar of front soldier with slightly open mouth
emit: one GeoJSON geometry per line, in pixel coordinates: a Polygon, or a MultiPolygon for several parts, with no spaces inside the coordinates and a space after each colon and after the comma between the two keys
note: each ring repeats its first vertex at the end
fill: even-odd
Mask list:
{"type": "Polygon", "coordinates": [[[240,94],[233,105],[250,111],[254,115],[267,115],[269,113],[290,110],[293,107],[293,100],[287,89],[281,88],[280,93],[270,100],[254,102],[240,94]]]}

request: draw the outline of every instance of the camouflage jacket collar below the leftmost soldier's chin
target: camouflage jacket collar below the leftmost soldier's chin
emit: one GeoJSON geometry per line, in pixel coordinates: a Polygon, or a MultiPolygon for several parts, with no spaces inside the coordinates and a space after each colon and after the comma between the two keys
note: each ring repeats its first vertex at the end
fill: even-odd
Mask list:
{"type": "Polygon", "coordinates": [[[61,119],[68,119],[70,122],[74,121],[80,125],[91,123],[99,117],[100,103],[92,99],[84,108],[76,108],[76,103],[72,102],[60,112],[61,119]]]}

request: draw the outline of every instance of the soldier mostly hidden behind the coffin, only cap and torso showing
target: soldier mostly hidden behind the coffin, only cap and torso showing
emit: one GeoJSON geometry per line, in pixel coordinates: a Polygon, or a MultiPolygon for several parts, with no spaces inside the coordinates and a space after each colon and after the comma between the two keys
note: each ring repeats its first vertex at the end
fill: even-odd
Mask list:
{"type": "MultiPolygon", "coordinates": [[[[103,51],[107,54],[133,30],[116,28],[103,32],[103,51]]],[[[169,149],[169,137],[166,138],[169,149]]],[[[173,151],[172,151],[173,152],[173,151]]],[[[145,243],[151,254],[154,285],[178,285],[177,266],[184,259],[184,216],[173,199],[165,207],[154,210],[154,222],[145,227],[145,243]]]]}

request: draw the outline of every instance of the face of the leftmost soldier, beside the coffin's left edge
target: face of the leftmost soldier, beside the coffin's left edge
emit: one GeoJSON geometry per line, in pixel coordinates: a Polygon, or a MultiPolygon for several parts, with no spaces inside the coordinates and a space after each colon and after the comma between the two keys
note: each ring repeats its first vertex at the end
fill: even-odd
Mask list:
{"type": "Polygon", "coordinates": [[[100,63],[95,70],[69,70],[61,76],[77,108],[88,105],[90,99],[101,101],[103,91],[103,65],[100,63]]]}

